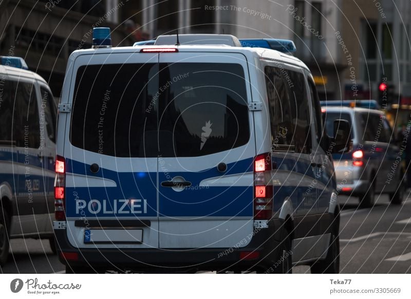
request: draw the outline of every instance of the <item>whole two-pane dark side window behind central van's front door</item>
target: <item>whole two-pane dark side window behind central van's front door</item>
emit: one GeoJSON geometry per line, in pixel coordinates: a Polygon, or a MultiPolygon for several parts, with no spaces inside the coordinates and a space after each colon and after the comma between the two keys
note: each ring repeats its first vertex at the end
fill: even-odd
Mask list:
{"type": "Polygon", "coordinates": [[[284,67],[265,67],[274,151],[311,151],[310,110],[305,78],[284,67]]]}

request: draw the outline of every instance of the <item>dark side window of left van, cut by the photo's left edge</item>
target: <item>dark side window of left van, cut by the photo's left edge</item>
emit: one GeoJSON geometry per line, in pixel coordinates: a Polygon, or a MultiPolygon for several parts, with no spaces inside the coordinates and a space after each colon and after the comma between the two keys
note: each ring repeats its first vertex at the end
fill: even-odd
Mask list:
{"type": "Polygon", "coordinates": [[[11,83],[0,78],[0,145],[15,143],[13,128],[13,101],[11,100],[11,83]]]}

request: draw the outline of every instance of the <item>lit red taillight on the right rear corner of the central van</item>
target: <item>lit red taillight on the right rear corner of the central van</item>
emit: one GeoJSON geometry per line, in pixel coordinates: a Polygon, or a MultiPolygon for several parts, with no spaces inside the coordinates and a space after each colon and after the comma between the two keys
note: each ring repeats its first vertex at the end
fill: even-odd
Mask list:
{"type": "Polygon", "coordinates": [[[268,220],[273,211],[273,185],[271,183],[271,155],[258,155],[254,159],[254,219],[268,220]]]}

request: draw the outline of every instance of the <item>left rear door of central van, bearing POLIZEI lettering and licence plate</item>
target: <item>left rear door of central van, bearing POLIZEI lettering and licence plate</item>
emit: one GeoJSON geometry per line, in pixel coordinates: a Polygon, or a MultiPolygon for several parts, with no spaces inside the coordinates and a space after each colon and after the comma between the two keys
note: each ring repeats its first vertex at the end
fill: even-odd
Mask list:
{"type": "Polygon", "coordinates": [[[79,55],[71,82],[62,98],[73,99],[64,137],[70,244],[158,248],[158,153],[145,147],[157,132],[158,53],[79,55]]]}

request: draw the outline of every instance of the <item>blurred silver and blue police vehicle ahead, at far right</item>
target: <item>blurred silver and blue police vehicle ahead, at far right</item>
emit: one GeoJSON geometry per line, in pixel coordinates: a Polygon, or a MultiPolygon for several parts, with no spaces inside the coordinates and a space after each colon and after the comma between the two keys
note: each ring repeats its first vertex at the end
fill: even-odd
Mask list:
{"type": "Polygon", "coordinates": [[[405,193],[403,147],[394,138],[384,113],[359,107],[323,106],[326,132],[334,132],[333,122],[351,124],[352,151],[333,154],[339,194],[358,196],[362,207],[371,207],[376,194],[388,194],[400,204],[405,193]]]}

